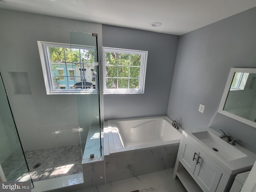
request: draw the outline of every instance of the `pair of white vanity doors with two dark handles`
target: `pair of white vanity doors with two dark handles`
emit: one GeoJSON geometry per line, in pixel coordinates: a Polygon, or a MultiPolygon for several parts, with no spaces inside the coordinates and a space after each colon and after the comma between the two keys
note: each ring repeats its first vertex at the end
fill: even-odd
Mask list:
{"type": "Polygon", "coordinates": [[[179,162],[194,176],[204,191],[216,191],[222,172],[185,139],[182,143],[179,162]]]}

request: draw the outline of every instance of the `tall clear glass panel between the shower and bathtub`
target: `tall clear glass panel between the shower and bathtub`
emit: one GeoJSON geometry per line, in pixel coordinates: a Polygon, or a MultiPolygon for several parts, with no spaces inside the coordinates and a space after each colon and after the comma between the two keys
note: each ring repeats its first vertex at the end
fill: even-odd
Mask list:
{"type": "Polygon", "coordinates": [[[83,159],[101,156],[97,35],[70,32],[83,159]]]}

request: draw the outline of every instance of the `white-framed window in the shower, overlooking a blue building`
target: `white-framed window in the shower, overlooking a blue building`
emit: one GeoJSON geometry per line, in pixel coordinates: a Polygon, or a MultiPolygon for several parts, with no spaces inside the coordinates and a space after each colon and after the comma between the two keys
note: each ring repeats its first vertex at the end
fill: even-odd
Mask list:
{"type": "Polygon", "coordinates": [[[96,48],[38,41],[47,94],[96,93],[96,48]],[[88,74],[86,74],[88,69],[88,74]],[[86,78],[88,77],[88,78],[86,78]]]}

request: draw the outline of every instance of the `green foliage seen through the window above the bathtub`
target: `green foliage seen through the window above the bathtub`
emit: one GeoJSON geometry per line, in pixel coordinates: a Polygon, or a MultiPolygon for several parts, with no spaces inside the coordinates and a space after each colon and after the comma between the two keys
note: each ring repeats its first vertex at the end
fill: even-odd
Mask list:
{"type": "Polygon", "coordinates": [[[106,87],[138,88],[140,62],[140,54],[106,52],[106,87]]]}

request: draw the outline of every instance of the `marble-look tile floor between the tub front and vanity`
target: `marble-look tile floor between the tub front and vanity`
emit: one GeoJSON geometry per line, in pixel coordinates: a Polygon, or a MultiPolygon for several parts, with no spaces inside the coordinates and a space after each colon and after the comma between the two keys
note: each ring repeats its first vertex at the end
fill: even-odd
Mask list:
{"type": "Polygon", "coordinates": [[[174,180],[173,170],[171,168],[73,192],[186,192],[180,180],[174,180]]]}

